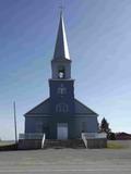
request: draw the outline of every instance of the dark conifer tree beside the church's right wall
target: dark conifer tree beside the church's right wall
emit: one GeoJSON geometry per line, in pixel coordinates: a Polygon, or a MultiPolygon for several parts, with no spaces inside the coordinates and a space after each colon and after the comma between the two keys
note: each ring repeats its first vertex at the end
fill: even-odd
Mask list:
{"type": "Polygon", "coordinates": [[[109,123],[107,122],[107,120],[106,120],[105,117],[102,120],[99,129],[100,129],[100,132],[107,133],[107,135],[108,135],[109,132],[110,132],[109,123]]]}

